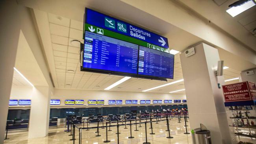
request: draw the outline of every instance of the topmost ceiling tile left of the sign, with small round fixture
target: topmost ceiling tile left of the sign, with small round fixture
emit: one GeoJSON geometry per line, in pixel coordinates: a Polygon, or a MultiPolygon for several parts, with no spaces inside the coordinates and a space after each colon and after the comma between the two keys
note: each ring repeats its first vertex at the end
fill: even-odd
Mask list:
{"type": "Polygon", "coordinates": [[[58,15],[54,15],[51,13],[48,13],[49,22],[54,24],[59,24],[61,26],[69,27],[70,25],[70,19],[65,17],[60,17],[58,15]]]}

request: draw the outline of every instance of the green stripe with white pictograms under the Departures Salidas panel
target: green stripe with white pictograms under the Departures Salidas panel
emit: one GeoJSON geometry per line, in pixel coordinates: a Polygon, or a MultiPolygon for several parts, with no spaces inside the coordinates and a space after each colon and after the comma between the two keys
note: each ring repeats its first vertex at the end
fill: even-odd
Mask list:
{"type": "Polygon", "coordinates": [[[138,44],[140,46],[144,46],[144,47],[147,47],[147,48],[152,48],[154,50],[159,50],[161,52],[169,53],[168,49],[165,49],[165,48],[162,48],[162,47],[156,46],[154,44],[150,44],[150,43],[147,43],[147,42],[144,42],[144,41],[132,38],[132,37],[128,37],[128,36],[122,35],[120,33],[109,31],[109,30],[106,30],[104,28],[93,26],[93,25],[90,25],[90,24],[85,24],[85,30],[86,31],[91,31],[93,33],[98,33],[98,34],[103,33],[103,35],[108,36],[108,37],[112,37],[112,38],[119,39],[119,40],[126,41],[126,42],[131,42],[131,43],[138,44]]]}

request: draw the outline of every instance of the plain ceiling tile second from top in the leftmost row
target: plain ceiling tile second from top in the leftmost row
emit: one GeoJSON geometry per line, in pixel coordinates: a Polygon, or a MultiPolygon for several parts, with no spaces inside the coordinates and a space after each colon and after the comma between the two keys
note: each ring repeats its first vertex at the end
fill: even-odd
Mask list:
{"type": "Polygon", "coordinates": [[[50,24],[50,32],[53,35],[69,37],[69,28],[57,24],[50,24]]]}

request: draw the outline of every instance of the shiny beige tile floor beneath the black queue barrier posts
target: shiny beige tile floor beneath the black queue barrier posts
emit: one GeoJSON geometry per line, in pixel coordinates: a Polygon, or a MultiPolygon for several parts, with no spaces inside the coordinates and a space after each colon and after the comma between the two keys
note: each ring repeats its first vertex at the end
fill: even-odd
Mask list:
{"type": "MultiPolygon", "coordinates": [[[[130,123],[130,122],[128,122],[130,123]]],[[[127,123],[127,124],[128,124],[127,123]]],[[[178,123],[178,118],[173,118],[169,120],[170,123],[170,135],[171,139],[166,138],[169,136],[166,125],[166,120],[159,122],[153,122],[153,133],[155,135],[150,135],[151,129],[150,123],[147,123],[147,139],[151,144],[192,144],[191,135],[184,134],[186,132],[184,126],[184,119],[182,119],[181,123],[178,123]]],[[[119,123],[122,124],[122,123],[119,123]]],[[[189,125],[189,122],[187,122],[189,125]]],[[[116,125],[113,123],[112,125],[116,125]]],[[[93,127],[96,125],[90,125],[93,127]]],[[[139,125],[137,125],[139,126],[139,125]]],[[[124,129],[124,126],[119,127],[119,143],[120,144],[142,144],[145,142],[145,124],[141,124],[142,127],[137,127],[139,131],[135,130],[135,125],[132,125],[132,137],[130,137],[130,126],[126,126],[127,129],[124,129]]],[[[64,132],[66,128],[56,128],[49,129],[49,134],[44,138],[32,138],[28,139],[28,132],[18,132],[18,133],[9,133],[9,140],[5,140],[4,144],[72,144],[73,141],[70,141],[72,136],[69,136],[70,133],[64,132]]],[[[110,140],[109,144],[117,144],[117,127],[111,127],[112,131],[108,131],[108,140],[110,140]]],[[[95,137],[97,133],[95,133],[96,129],[90,129],[89,131],[82,130],[82,144],[104,144],[104,140],[106,140],[106,129],[99,129],[100,137],[95,137]]],[[[187,131],[190,131],[190,127],[187,127],[187,131]]],[[[79,131],[76,129],[76,140],[75,144],[79,144],[79,131]]]]}

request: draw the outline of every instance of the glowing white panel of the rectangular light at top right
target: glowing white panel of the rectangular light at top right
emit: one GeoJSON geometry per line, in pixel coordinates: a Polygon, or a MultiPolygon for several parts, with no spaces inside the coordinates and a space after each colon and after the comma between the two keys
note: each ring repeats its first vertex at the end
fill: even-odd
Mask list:
{"type": "Polygon", "coordinates": [[[232,17],[235,17],[255,5],[256,4],[255,4],[254,0],[249,0],[239,6],[231,7],[230,9],[226,10],[226,12],[229,13],[232,17]]]}

